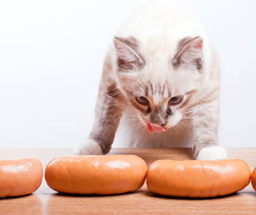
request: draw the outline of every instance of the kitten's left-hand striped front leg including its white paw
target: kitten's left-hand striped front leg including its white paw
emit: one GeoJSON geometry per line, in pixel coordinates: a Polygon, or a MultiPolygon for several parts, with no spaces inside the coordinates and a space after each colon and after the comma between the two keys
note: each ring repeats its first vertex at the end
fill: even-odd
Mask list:
{"type": "Polygon", "coordinates": [[[93,128],[89,138],[75,148],[75,155],[102,155],[111,150],[124,105],[120,94],[115,84],[99,89],[93,128]]]}

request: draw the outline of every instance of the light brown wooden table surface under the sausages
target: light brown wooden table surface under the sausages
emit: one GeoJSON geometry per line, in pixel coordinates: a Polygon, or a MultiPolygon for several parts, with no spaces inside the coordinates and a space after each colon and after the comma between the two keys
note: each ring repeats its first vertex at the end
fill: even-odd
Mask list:
{"type": "MultiPolygon", "coordinates": [[[[228,148],[229,158],[244,159],[251,171],[256,167],[256,148],[228,148]]],[[[36,157],[43,166],[54,157],[71,154],[71,149],[0,149],[0,159],[36,157]]],[[[189,159],[188,148],[119,148],[111,154],[136,154],[149,166],[158,159],[189,159]]],[[[45,180],[32,195],[0,199],[0,215],[85,215],[85,214],[256,214],[256,192],[251,184],[235,195],[210,199],[166,198],[148,192],[144,186],[134,193],[113,196],[61,195],[45,180]]]]}

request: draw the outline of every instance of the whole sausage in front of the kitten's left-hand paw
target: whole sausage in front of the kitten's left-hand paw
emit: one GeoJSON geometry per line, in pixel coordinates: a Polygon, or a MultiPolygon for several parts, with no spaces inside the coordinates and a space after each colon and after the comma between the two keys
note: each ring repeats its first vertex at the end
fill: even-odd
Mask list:
{"type": "Polygon", "coordinates": [[[135,155],[57,157],[45,169],[47,185],[67,194],[112,195],[140,189],[147,165],[135,155]]]}

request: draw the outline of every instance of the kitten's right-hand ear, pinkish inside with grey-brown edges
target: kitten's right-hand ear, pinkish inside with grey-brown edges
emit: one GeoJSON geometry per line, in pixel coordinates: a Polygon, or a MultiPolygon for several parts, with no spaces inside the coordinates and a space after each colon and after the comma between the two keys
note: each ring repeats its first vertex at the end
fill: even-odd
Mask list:
{"type": "Polygon", "coordinates": [[[202,67],[203,58],[203,40],[201,37],[183,38],[178,46],[175,57],[172,60],[174,68],[181,64],[192,64],[200,70],[202,67]]]}

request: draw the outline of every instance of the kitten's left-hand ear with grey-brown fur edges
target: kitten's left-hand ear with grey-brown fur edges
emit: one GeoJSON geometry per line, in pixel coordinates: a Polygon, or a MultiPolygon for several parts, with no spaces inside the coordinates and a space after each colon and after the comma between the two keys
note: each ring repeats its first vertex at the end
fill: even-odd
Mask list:
{"type": "Polygon", "coordinates": [[[120,69],[139,69],[144,65],[144,59],[138,52],[138,41],[135,38],[114,38],[117,63],[120,69]]]}

